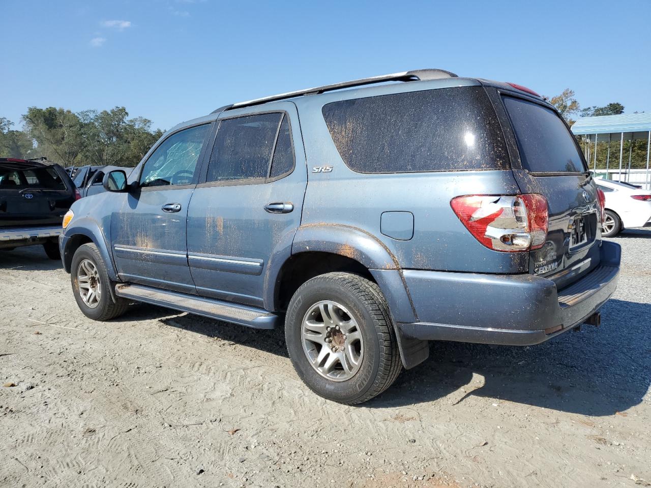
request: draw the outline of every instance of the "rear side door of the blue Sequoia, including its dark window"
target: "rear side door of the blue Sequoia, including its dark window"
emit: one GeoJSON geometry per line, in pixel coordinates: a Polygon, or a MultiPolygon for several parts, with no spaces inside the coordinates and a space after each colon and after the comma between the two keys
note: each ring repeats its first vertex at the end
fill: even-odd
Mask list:
{"type": "Polygon", "coordinates": [[[300,224],[307,174],[298,114],[292,103],[270,108],[276,106],[284,112],[280,118],[267,113],[242,124],[225,120],[217,129],[206,170],[206,178],[214,181],[197,185],[187,216],[188,260],[199,295],[262,306],[270,256],[300,224]],[[262,126],[273,120],[280,122],[269,132],[274,138],[269,144],[262,126]],[[243,141],[249,128],[256,133],[243,141]],[[260,178],[255,157],[260,154],[273,160],[266,178],[260,178]],[[287,157],[294,159],[288,163],[287,157]],[[269,204],[286,206],[283,211],[277,206],[265,210],[269,204]]]}

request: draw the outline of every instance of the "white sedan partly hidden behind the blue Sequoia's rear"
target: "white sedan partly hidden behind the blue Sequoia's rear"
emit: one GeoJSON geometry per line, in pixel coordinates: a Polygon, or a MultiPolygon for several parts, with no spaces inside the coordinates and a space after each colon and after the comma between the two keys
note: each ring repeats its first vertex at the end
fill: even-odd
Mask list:
{"type": "Polygon", "coordinates": [[[595,182],[606,197],[603,237],[613,237],[624,228],[651,224],[651,191],[602,178],[596,178],[595,182]]]}

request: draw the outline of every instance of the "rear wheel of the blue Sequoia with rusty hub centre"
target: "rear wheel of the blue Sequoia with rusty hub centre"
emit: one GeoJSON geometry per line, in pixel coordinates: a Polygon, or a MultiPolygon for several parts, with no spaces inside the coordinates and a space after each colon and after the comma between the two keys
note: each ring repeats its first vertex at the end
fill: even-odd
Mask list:
{"type": "MultiPolygon", "coordinates": [[[[333,326],[333,331],[334,329],[333,326]]],[[[327,273],[301,285],[287,309],[285,338],[290,359],[299,377],[313,392],[327,400],[346,405],[370,400],[389,388],[402,371],[389,306],[380,287],[351,273],[327,273]],[[335,317],[334,321],[323,317],[321,310],[324,308],[319,304],[325,306],[326,315],[335,317]],[[307,314],[314,319],[309,319],[307,314]],[[306,323],[316,323],[321,332],[304,332],[304,329],[307,331],[311,327],[306,329],[304,320],[306,323]],[[342,346],[340,338],[334,335],[328,343],[327,334],[330,332],[325,332],[327,327],[321,328],[321,321],[324,326],[327,323],[340,323],[341,329],[337,327],[338,331],[333,332],[335,334],[341,335],[340,332],[347,331],[343,335],[342,346]],[[351,327],[353,323],[355,325],[351,327]],[[307,336],[309,339],[305,340],[307,336]],[[358,342],[349,342],[353,336],[358,338],[358,342]],[[313,343],[312,340],[318,340],[323,345],[313,343]],[[337,346],[340,346],[339,352],[333,353],[333,357],[341,357],[342,360],[326,376],[331,350],[334,349],[323,348],[337,346]],[[349,350],[352,351],[350,355],[349,350]],[[326,357],[319,362],[322,353],[326,357]],[[350,366],[354,363],[344,357],[355,355],[357,366],[353,372],[355,368],[350,366]],[[344,368],[344,362],[348,364],[348,370],[344,368]],[[320,368],[321,372],[317,370],[319,364],[324,364],[320,368]]]]}

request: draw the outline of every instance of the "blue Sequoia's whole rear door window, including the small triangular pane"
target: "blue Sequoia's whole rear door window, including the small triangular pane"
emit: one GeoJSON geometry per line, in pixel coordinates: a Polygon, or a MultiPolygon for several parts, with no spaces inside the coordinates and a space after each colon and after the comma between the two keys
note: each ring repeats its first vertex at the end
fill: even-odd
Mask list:
{"type": "Polygon", "coordinates": [[[208,163],[206,182],[266,180],[294,167],[289,122],[283,113],[222,120],[208,163]],[[271,167],[270,167],[271,165],[271,167]]]}

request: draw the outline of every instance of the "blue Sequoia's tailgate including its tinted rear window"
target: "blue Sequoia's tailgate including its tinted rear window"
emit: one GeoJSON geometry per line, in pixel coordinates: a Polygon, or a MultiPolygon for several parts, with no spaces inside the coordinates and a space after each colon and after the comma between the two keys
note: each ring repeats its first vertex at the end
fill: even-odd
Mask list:
{"type": "Polygon", "coordinates": [[[547,241],[529,253],[529,273],[553,279],[560,289],[599,265],[596,184],[553,109],[519,96],[503,95],[502,101],[518,148],[512,158],[516,181],[523,193],[544,195],[549,206],[547,241]]]}

